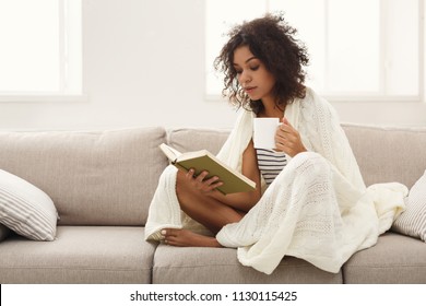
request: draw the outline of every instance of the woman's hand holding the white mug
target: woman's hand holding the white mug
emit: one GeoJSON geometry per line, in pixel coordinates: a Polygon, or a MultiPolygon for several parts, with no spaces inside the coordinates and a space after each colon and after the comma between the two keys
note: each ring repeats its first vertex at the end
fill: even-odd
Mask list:
{"type": "Polygon", "coordinates": [[[284,152],[291,157],[294,157],[300,152],[307,151],[305,145],[301,143],[299,132],[293,128],[285,117],[283,118],[283,123],[276,129],[275,150],[284,152]]]}

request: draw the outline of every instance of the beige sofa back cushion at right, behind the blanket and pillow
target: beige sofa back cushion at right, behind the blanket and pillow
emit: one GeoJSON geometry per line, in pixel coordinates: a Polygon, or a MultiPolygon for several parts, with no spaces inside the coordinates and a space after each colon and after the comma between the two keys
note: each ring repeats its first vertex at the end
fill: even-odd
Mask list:
{"type": "Polygon", "coordinates": [[[342,127],[367,186],[399,181],[411,188],[426,169],[426,128],[342,127]]]}

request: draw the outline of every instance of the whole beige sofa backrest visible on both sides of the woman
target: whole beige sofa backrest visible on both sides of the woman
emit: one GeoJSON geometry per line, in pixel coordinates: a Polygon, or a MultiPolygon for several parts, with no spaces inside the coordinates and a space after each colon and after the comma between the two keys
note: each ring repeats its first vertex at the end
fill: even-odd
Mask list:
{"type": "MultiPolygon", "coordinates": [[[[366,185],[409,188],[426,169],[426,128],[343,125],[366,185]]],[[[0,168],[51,197],[59,225],[144,225],[168,162],[158,149],[216,154],[229,130],[133,128],[107,131],[0,132],[0,168]]]]}

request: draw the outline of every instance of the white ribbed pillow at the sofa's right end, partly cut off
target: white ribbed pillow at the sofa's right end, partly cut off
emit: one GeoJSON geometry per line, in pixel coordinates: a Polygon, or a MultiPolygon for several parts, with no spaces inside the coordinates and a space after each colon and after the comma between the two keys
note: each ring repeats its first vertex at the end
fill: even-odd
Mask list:
{"type": "Polygon", "coordinates": [[[405,211],[393,222],[392,229],[426,243],[426,170],[411,188],[405,205],[405,211]]]}

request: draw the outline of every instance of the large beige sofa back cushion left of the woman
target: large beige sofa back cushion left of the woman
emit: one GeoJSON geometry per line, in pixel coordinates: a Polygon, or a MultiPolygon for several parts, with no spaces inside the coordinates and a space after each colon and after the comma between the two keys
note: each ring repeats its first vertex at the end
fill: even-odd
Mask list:
{"type": "Polygon", "coordinates": [[[61,225],[143,225],[167,158],[164,128],[0,132],[0,168],[44,190],[61,225]]]}

